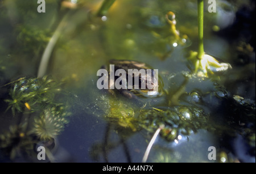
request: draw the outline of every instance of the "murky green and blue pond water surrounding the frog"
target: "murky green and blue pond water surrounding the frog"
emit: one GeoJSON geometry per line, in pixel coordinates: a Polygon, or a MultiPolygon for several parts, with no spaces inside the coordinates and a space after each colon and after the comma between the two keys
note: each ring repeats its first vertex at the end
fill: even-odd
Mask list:
{"type": "Polygon", "coordinates": [[[142,162],[160,130],[146,162],[255,162],[255,2],[205,1],[204,51],[232,66],[208,75],[188,58],[197,1],[101,4],[0,1],[0,161],[142,162]],[[99,90],[112,59],[158,69],[161,95],[99,90]]]}

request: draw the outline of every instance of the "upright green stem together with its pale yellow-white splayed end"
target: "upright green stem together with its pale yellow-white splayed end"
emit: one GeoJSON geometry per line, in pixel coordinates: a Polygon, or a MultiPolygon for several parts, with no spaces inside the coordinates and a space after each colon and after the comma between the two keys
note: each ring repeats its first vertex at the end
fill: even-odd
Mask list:
{"type": "Polygon", "coordinates": [[[193,62],[195,66],[195,73],[199,76],[208,77],[209,74],[226,71],[231,69],[232,66],[229,63],[220,63],[216,58],[205,54],[204,52],[204,1],[197,0],[197,19],[198,19],[198,37],[199,46],[198,52],[190,52],[188,60],[193,62]],[[202,73],[199,73],[199,70],[202,73]]]}

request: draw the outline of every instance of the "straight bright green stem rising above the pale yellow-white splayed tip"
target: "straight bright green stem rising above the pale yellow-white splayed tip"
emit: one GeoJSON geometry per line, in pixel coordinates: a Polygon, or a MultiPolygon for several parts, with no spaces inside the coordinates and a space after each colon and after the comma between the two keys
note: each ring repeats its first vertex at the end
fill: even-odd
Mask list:
{"type": "Polygon", "coordinates": [[[204,56],[204,0],[197,0],[197,19],[198,19],[198,37],[199,46],[197,58],[201,60],[204,56]]]}

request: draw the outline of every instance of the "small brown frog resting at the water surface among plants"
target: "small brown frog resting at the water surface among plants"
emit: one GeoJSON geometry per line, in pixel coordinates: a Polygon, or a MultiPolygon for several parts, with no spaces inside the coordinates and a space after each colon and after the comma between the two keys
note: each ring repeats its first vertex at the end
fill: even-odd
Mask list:
{"type": "MultiPolygon", "coordinates": [[[[139,75],[139,88],[135,89],[134,88],[134,83],[133,83],[133,88],[129,89],[127,88],[127,83],[126,85],[126,89],[109,89],[109,93],[112,95],[116,96],[116,92],[117,91],[119,94],[121,94],[122,96],[127,97],[128,99],[135,99],[135,100],[139,100],[139,97],[158,97],[162,94],[162,87],[163,87],[163,81],[162,78],[160,78],[158,76],[158,80],[155,79],[156,72],[154,69],[152,69],[151,66],[147,65],[146,63],[143,62],[139,62],[139,61],[133,61],[133,60],[109,60],[109,65],[114,65],[114,71],[117,71],[118,69],[123,69],[126,72],[126,82],[128,82],[128,70],[129,69],[137,69],[137,70],[141,70],[144,69],[146,70],[151,70],[151,74],[150,74],[150,78],[148,78],[148,74],[146,75],[139,75]],[[146,88],[143,89],[142,87],[142,82],[146,82],[146,88]],[[153,88],[149,88],[147,87],[147,83],[151,84],[151,86],[153,86],[153,88]],[[158,91],[154,91],[154,88],[158,87],[158,91]],[[152,95],[148,95],[150,94],[150,92],[154,93],[152,95]]],[[[102,66],[102,68],[106,69],[106,65],[102,66]]],[[[110,74],[110,70],[108,69],[108,73],[110,74]]],[[[133,74],[133,82],[134,82],[134,78],[137,75],[133,74]]],[[[115,80],[119,78],[118,76],[115,76],[115,80]]],[[[111,80],[109,80],[109,86],[111,86],[114,82],[112,82],[111,80]]]]}

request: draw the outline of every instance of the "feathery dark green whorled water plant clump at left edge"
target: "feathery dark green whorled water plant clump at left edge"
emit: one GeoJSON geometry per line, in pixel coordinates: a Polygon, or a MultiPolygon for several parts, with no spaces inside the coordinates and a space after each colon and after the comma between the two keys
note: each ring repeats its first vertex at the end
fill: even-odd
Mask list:
{"type": "MultiPolygon", "coordinates": [[[[19,124],[0,135],[0,148],[14,159],[20,151],[24,155],[35,153],[33,146],[56,138],[68,123],[67,104],[56,100],[62,82],[47,76],[43,78],[19,78],[6,84],[10,87],[9,104],[14,116],[19,114],[19,124]]],[[[49,154],[49,152],[48,152],[49,154]]]]}

